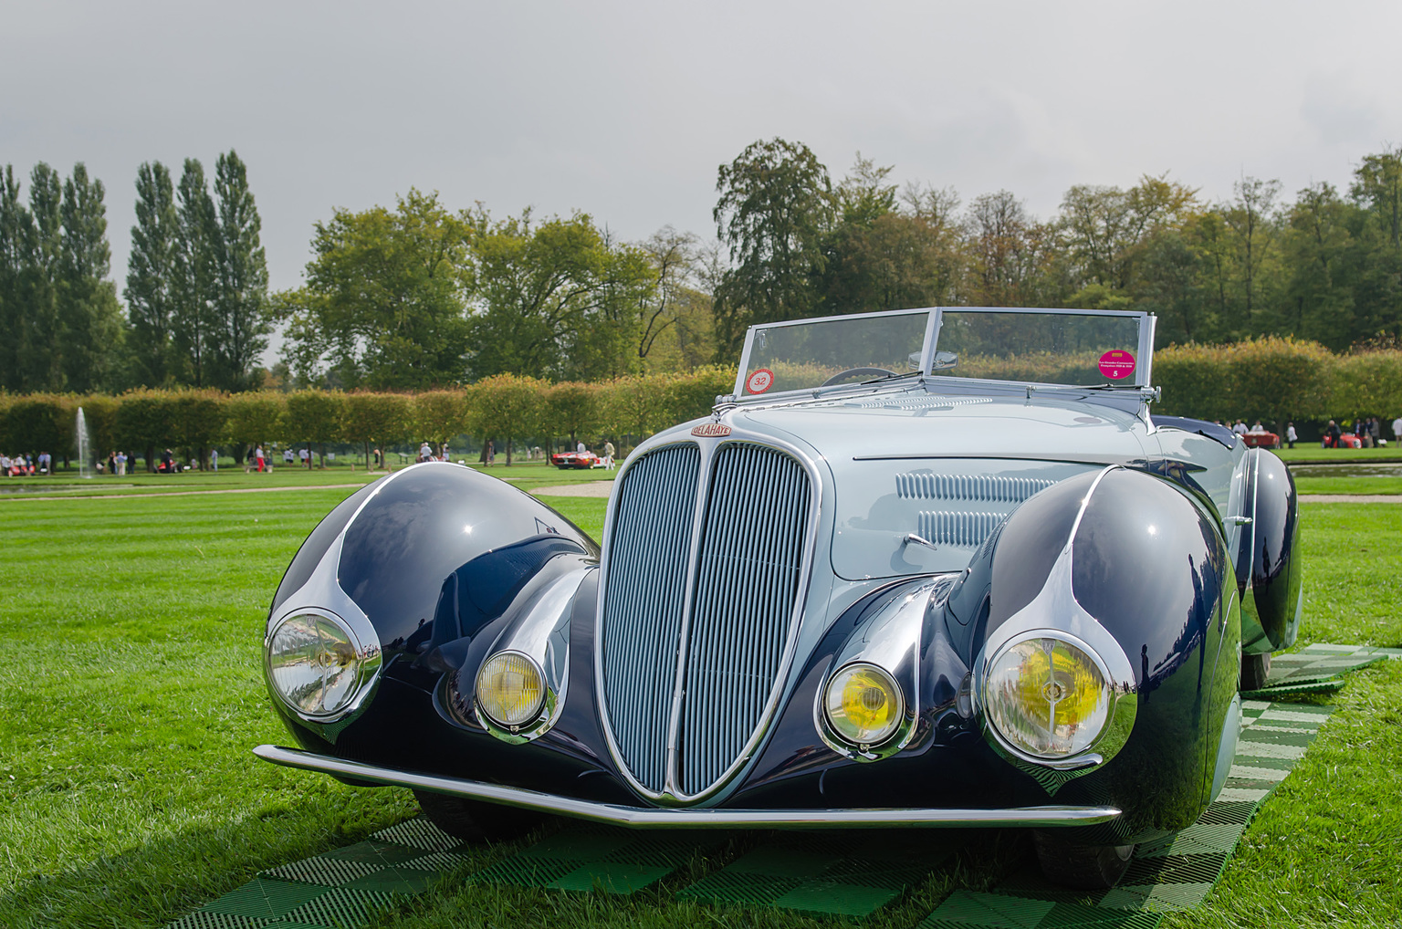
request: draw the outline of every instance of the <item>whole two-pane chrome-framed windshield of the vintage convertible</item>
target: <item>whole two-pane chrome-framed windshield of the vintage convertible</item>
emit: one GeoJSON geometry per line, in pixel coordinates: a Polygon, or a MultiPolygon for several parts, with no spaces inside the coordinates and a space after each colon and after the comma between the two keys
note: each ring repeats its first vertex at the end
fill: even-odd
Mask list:
{"type": "Polygon", "coordinates": [[[1028,384],[1147,385],[1143,314],[951,307],[753,326],[739,397],[920,374],[1028,384]]]}

